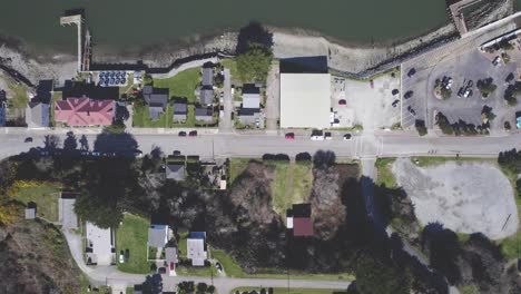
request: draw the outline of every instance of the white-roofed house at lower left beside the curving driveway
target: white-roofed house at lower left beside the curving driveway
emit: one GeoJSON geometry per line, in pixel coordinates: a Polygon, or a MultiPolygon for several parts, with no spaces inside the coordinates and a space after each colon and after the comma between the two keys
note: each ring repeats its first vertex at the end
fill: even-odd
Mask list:
{"type": "Polygon", "coordinates": [[[114,246],[114,232],[111,228],[100,228],[87,222],[86,231],[86,255],[87,264],[110,265],[116,261],[116,248],[114,246]]]}

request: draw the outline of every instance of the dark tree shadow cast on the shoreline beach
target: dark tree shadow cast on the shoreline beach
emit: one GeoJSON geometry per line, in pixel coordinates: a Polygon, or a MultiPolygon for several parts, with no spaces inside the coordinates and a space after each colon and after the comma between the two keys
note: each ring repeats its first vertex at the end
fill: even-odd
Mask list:
{"type": "Polygon", "coordinates": [[[240,28],[235,51],[237,55],[244,53],[252,45],[259,45],[264,48],[273,47],[273,33],[258,21],[252,21],[240,28]]]}

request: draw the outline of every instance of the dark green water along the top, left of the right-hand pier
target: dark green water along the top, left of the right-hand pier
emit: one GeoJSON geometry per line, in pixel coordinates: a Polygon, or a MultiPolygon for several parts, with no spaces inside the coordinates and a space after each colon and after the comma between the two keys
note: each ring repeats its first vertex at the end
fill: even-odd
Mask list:
{"type": "MultiPolygon", "coordinates": [[[[521,1],[521,0],[518,0],[521,1]]],[[[392,42],[449,22],[444,0],[0,0],[0,35],[38,51],[73,52],[66,9],[85,8],[101,48],[124,50],[237,29],[250,20],[353,43],[392,42]]]]}

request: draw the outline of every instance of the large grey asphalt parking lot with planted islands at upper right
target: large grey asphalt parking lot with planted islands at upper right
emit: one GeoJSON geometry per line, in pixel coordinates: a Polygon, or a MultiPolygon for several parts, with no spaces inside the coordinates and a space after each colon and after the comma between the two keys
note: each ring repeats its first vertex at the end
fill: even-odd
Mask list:
{"type": "MultiPolygon", "coordinates": [[[[509,107],[504,104],[503,95],[509,86],[505,81],[509,74],[517,74],[515,60],[521,60],[518,56],[519,49],[515,48],[509,51],[511,61],[508,63],[494,66],[493,59],[484,55],[479,48],[470,49],[469,51],[456,55],[453,58],[445,58],[441,62],[431,68],[422,68],[422,65],[407,65],[402,68],[402,126],[404,128],[413,128],[416,119],[424,120],[427,128],[434,126],[434,116],[441,111],[450,122],[460,120],[475,126],[481,125],[481,112],[484,106],[492,108],[492,112],[497,118],[491,121],[491,133],[501,131],[505,121],[511,126],[515,126],[515,111],[518,107],[509,107]],[[411,77],[407,75],[414,68],[415,74],[411,77]],[[442,99],[436,97],[434,88],[436,80],[451,78],[452,85],[450,90],[452,94],[449,98],[442,99]],[[483,98],[476,87],[479,80],[491,78],[497,89],[483,98]],[[465,87],[466,86],[466,87],[465,87]],[[459,91],[461,97],[459,97],[459,91]],[[465,91],[466,92],[466,98],[465,91]],[[403,94],[412,91],[412,97],[405,99],[403,94]],[[411,111],[413,109],[413,111],[411,111]]],[[[419,60],[421,62],[421,59],[419,60]]],[[[513,82],[513,81],[512,81],[513,82]]],[[[446,86],[445,84],[442,84],[446,86]]]]}

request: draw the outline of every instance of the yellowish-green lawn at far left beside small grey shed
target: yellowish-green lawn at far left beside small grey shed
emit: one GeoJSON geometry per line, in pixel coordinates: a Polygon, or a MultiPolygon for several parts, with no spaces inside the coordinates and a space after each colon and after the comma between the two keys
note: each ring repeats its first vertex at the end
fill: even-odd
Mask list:
{"type": "Polygon", "coordinates": [[[20,185],[13,198],[24,204],[37,204],[37,216],[50,222],[58,222],[58,199],[61,186],[55,183],[42,182],[37,185],[20,185]]]}

